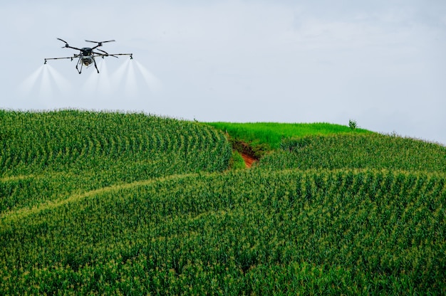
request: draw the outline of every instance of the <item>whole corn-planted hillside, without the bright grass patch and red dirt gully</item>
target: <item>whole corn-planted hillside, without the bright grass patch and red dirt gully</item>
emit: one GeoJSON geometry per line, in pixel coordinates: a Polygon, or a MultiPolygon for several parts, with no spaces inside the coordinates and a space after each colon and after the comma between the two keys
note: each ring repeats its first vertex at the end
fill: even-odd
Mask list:
{"type": "Polygon", "coordinates": [[[0,123],[0,295],[446,292],[445,147],[307,134],[235,170],[197,122],[0,123]]]}

